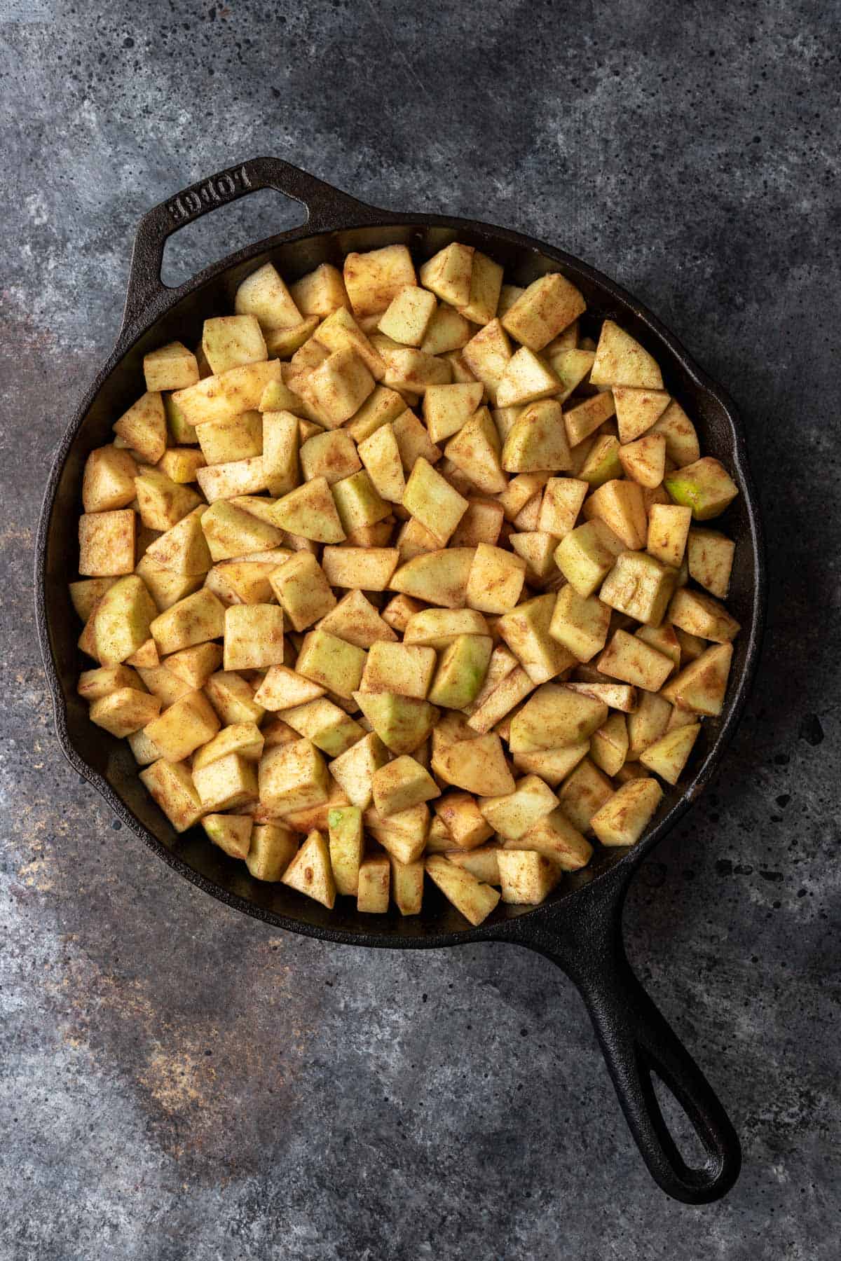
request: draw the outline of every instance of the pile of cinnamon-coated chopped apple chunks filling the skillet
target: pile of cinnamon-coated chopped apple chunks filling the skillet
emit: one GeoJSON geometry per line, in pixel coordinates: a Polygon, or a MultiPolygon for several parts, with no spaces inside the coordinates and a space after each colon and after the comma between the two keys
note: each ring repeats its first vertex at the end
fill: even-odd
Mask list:
{"type": "Polygon", "coordinates": [[[271,264],[84,467],[78,691],[257,880],[472,924],[634,845],[720,714],[738,491],[560,272],[271,264]],[[586,317],[585,317],[586,319],[586,317]]]}

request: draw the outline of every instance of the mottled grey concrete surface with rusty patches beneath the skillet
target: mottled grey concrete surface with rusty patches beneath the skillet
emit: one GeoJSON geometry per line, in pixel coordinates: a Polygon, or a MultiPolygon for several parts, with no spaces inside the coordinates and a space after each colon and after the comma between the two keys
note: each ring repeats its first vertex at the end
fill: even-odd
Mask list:
{"type": "MultiPolygon", "coordinates": [[[[3,1261],[835,1261],[838,6],[0,14],[3,1261]],[[30,579],[52,451],[113,340],[139,216],[258,153],[565,246],[744,409],[764,667],[628,908],[635,963],[744,1139],[720,1204],[653,1187],[548,963],[272,932],[174,879],[62,762],[30,579]]],[[[240,203],[168,262],[286,214],[240,203]]]]}

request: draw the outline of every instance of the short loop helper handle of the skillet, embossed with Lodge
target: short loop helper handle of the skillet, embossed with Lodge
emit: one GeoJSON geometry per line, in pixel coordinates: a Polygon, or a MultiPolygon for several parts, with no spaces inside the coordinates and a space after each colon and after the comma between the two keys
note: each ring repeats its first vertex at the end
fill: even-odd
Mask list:
{"type": "MultiPolygon", "coordinates": [[[[275,188],[305,207],[306,221],[301,227],[294,228],[294,232],[301,232],[304,227],[306,232],[323,232],[340,227],[348,219],[354,224],[364,224],[383,217],[383,212],[374,211],[282,158],[250,158],[237,166],[217,171],[154,206],[137,224],[121,338],[141,318],[148,322],[156,317],[164,304],[171,301],[179,291],[168,289],[160,279],[166,238],[217,206],[227,206],[261,188],[275,188]]],[[[180,288],[187,289],[187,285],[180,288]]]]}

